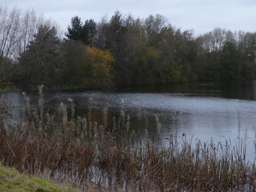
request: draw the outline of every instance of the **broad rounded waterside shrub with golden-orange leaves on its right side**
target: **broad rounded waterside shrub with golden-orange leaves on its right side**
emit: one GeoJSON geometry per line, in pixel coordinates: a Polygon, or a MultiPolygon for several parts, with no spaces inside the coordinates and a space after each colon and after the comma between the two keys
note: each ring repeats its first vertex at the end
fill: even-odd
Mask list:
{"type": "Polygon", "coordinates": [[[81,41],[67,41],[64,84],[78,87],[112,87],[114,58],[109,50],[84,45],[81,41]],[[72,77],[72,78],[70,78],[72,77]]]}

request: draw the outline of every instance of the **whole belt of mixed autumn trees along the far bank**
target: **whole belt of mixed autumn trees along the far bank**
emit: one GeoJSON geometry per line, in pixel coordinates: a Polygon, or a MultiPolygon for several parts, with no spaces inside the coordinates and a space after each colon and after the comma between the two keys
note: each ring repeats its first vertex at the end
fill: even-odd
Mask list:
{"type": "Polygon", "coordinates": [[[103,88],[195,80],[255,79],[256,32],[215,28],[195,36],[160,14],[58,25],[17,7],[0,7],[0,82],[31,89],[103,88]]]}

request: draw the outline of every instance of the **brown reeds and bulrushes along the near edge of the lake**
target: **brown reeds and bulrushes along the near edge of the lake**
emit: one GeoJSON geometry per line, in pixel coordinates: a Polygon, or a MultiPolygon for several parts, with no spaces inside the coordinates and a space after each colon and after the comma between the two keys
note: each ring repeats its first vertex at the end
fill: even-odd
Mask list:
{"type": "MultiPolygon", "coordinates": [[[[92,100],[84,117],[74,117],[72,99],[70,120],[63,104],[57,115],[45,114],[42,89],[38,106],[25,108],[25,120],[0,120],[3,165],[98,191],[255,191],[255,162],[246,160],[242,139],[235,146],[228,139],[198,140],[192,148],[174,128],[164,143],[156,116],[158,135],[145,130],[142,141],[124,110],[118,120],[107,120],[104,109],[103,125],[91,122],[92,100]]],[[[25,93],[24,99],[29,105],[25,93]]]]}

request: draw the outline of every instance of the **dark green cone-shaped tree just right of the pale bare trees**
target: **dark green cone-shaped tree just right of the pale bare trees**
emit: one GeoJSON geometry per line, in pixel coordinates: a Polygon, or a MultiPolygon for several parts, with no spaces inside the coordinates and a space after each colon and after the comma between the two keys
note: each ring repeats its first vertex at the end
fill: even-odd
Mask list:
{"type": "Polygon", "coordinates": [[[41,25],[34,40],[18,58],[18,79],[22,86],[33,87],[40,83],[53,86],[61,74],[62,49],[56,28],[41,25]],[[53,78],[54,77],[54,78],[53,78]]]}

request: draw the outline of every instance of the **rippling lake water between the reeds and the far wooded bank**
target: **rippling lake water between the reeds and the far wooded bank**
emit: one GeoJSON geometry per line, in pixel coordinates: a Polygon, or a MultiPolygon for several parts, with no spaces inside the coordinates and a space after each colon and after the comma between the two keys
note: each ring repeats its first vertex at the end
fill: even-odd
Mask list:
{"type": "MultiPolygon", "coordinates": [[[[21,92],[8,95],[13,98],[18,96],[13,101],[15,104],[24,103],[21,92]]],[[[37,103],[37,92],[27,92],[27,96],[31,104],[37,103]]],[[[183,133],[187,139],[193,136],[193,142],[196,138],[218,141],[223,137],[233,141],[238,137],[239,119],[240,136],[245,139],[247,133],[247,140],[251,141],[248,148],[253,146],[252,140],[255,140],[252,126],[256,125],[256,80],[203,81],[93,91],[44,91],[45,110],[54,113],[63,102],[70,114],[68,98],[74,100],[76,116],[87,115],[88,100],[92,98],[92,121],[97,121],[98,125],[103,123],[102,110],[105,107],[110,127],[112,117],[118,120],[120,110],[124,108],[131,119],[130,129],[141,131],[143,135],[145,129],[149,131],[149,136],[156,134],[155,115],[158,115],[162,140],[170,137],[176,125],[178,136],[183,133]],[[138,120],[140,103],[142,118],[138,120]]],[[[254,157],[254,154],[251,155],[254,157]]]]}

